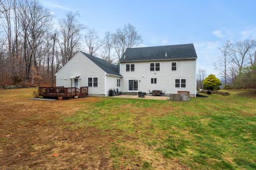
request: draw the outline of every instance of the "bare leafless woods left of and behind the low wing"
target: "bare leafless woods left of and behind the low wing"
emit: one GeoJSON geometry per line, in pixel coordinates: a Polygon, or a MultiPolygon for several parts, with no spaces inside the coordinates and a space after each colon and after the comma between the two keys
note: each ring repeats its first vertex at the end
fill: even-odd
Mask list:
{"type": "MultiPolygon", "coordinates": [[[[142,43],[131,24],[106,31],[104,37],[69,12],[58,23],[37,0],[0,0],[0,85],[51,82],[79,50],[118,63],[126,48],[142,43]]],[[[45,84],[45,85],[46,85],[45,84]]]]}

